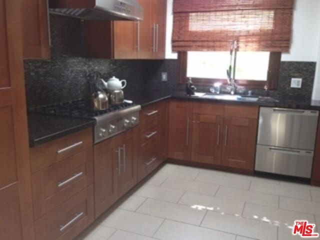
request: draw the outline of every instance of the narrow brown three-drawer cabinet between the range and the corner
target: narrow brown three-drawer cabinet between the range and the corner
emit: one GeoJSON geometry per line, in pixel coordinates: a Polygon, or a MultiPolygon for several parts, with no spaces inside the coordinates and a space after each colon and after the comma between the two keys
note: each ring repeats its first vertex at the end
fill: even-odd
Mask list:
{"type": "Polygon", "coordinates": [[[167,158],[168,102],[142,107],[138,180],[143,179],[167,158]]]}

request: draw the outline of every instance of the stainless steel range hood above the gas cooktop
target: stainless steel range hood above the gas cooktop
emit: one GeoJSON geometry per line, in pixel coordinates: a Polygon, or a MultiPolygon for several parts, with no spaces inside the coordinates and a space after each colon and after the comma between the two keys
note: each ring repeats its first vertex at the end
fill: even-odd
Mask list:
{"type": "Polygon", "coordinates": [[[143,20],[136,0],[49,0],[50,13],[90,20],[143,20]]]}

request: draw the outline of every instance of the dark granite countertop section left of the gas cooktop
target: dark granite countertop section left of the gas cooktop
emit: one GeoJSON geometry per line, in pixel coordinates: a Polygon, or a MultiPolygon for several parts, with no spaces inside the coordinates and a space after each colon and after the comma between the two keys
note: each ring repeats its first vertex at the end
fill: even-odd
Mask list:
{"type": "Polygon", "coordinates": [[[92,127],[94,124],[95,120],[93,119],[29,113],[29,146],[34,147],[61,136],[92,127]]]}

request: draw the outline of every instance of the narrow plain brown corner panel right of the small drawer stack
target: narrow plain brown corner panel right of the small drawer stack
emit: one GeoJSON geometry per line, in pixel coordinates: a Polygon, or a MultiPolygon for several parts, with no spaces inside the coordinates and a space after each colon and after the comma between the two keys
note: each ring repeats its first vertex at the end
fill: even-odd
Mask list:
{"type": "Polygon", "coordinates": [[[159,105],[158,116],[158,157],[162,163],[168,156],[168,102],[159,105]]]}

